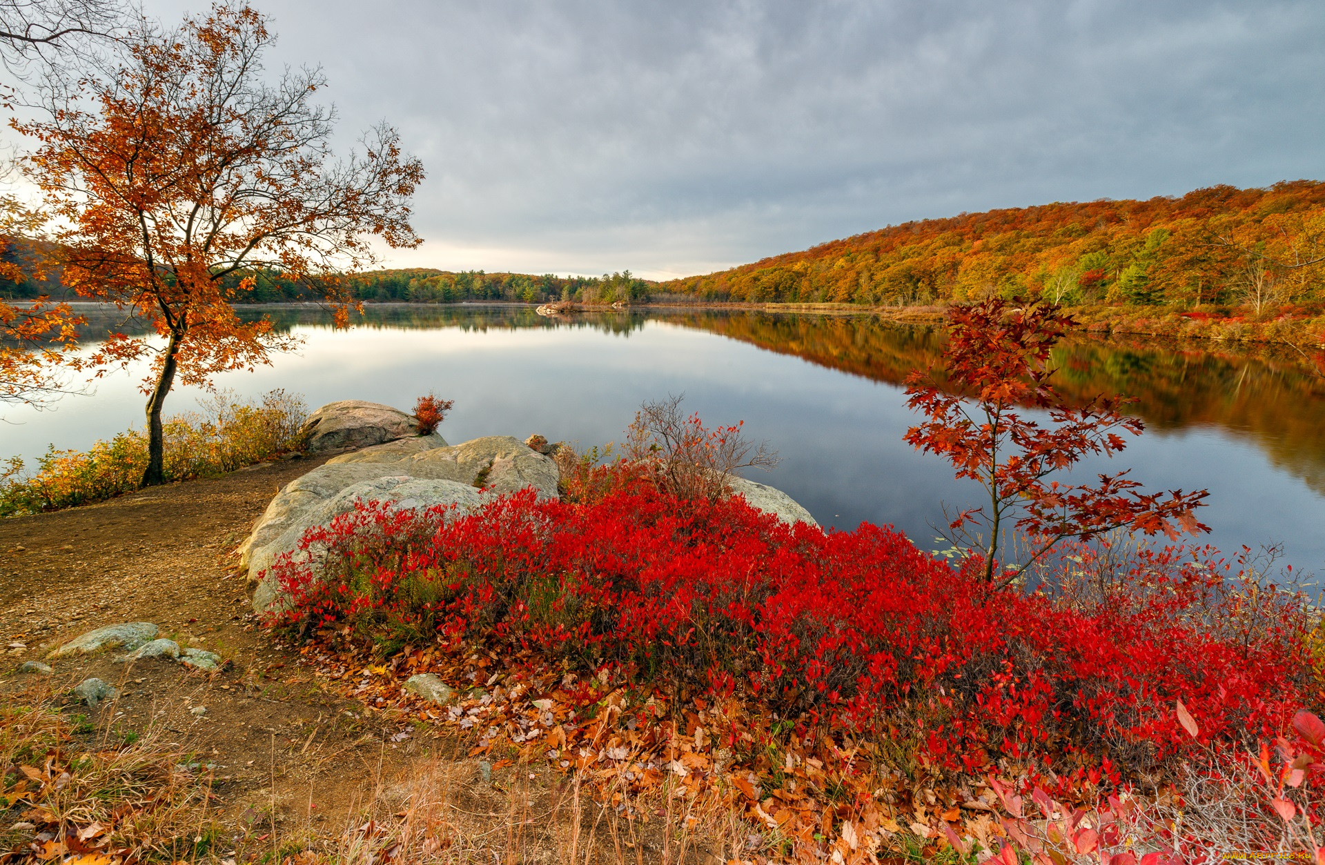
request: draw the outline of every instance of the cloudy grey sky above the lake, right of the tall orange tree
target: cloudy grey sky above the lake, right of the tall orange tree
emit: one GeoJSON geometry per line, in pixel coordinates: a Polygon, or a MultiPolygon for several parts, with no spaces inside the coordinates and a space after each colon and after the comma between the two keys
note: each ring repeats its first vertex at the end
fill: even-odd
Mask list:
{"type": "MultiPolygon", "coordinates": [[[[147,0],[176,19],[200,3],[147,0]]],[[[1325,178],[1321,0],[257,0],[428,170],[392,265],[706,273],[913,219],[1325,178]]]]}

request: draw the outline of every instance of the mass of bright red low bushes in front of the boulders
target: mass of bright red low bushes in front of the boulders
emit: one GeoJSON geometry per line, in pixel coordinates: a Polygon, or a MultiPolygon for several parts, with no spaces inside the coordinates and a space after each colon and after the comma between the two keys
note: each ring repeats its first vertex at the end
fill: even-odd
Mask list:
{"type": "Polygon", "coordinates": [[[1255,632],[1218,568],[1155,554],[1129,604],[990,592],[904,535],[787,526],[741,499],[680,502],[621,466],[578,501],[466,515],[363,505],[311,530],[277,579],[284,628],[382,644],[489,641],[674,693],[739,693],[803,727],[905,739],[950,770],[1117,780],[1195,747],[1275,735],[1304,703],[1291,609],[1255,632]],[[1143,589],[1143,591],[1141,591],[1143,589]],[[1214,599],[1214,600],[1211,600],[1214,599]],[[1200,738],[1183,731],[1182,701],[1200,738]]]}

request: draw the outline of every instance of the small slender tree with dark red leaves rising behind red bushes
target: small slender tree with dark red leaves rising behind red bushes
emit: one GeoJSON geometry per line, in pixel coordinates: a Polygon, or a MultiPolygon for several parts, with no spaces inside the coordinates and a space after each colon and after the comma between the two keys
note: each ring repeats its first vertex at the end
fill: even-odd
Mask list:
{"type": "Polygon", "coordinates": [[[925,415],[906,441],[947,457],[957,477],[984,489],[984,503],[958,513],[949,529],[979,550],[984,580],[998,588],[1068,539],[1090,540],[1116,529],[1170,538],[1208,531],[1194,515],[1204,490],[1141,493],[1128,470],[1098,474],[1094,483],[1056,480],[1088,456],[1121,452],[1120,433],[1143,429],[1122,413],[1125,397],[1100,396],[1075,408],[1056,392],[1049,350],[1069,325],[1065,314],[1040,303],[991,298],[954,306],[946,380],[934,371],[906,379],[908,405],[925,415]],[[1023,416],[1024,409],[1047,413],[1048,423],[1023,416]],[[1020,560],[1000,560],[1010,529],[1019,533],[1020,560]]]}

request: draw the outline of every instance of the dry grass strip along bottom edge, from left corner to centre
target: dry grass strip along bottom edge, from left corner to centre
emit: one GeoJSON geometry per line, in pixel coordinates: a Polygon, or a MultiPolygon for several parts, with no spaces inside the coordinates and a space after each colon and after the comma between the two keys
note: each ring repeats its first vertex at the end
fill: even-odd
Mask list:
{"type": "Polygon", "coordinates": [[[420,756],[403,778],[379,764],[350,817],[325,825],[311,787],[307,809],[277,800],[273,751],[270,801],[223,819],[205,760],[168,730],[94,726],[38,689],[0,707],[0,856],[13,861],[706,865],[771,842],[681,786],[645,799],[454,752],[420,756]]]}

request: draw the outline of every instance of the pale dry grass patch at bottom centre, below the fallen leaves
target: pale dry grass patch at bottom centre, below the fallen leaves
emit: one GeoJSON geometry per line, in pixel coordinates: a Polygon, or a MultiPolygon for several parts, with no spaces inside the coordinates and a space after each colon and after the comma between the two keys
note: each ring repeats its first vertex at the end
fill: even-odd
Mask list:
{"type": "Polygon", "coordinates": [[[705,865],[765,844],[716,800],[686,797],[681,787],[637,799],[591,788],[582,775],[549,780],[515,766],[498,778],[482,766],[420,759],[407,778],[366,789],[339,832],[311,819],[257,821],[264,831],[249,831],[231,856],[289,865],[705,865]]]}

